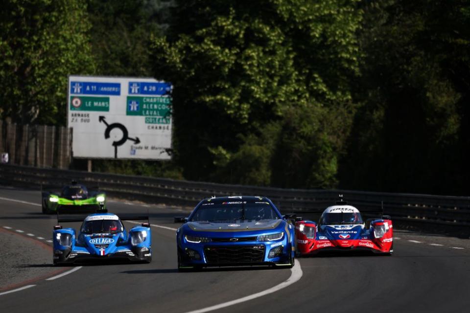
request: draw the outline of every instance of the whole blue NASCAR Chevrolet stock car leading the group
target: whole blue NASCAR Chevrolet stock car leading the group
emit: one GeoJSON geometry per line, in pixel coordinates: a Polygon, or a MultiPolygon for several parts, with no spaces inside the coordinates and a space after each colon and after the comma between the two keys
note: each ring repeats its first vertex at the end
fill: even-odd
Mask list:
{"type": "Polygon", "coordinates": [[[176,232],[178,269],[273,265],[292,268],[295,230],[264,197],[205,199],[176,232]]]}

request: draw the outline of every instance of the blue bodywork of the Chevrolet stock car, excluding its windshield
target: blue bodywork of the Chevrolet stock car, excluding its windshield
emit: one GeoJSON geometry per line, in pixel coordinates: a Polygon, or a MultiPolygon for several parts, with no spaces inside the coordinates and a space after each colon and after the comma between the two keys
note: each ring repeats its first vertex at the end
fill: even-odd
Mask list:
{"type": "Polygon", "coordinates": [[[188,221],[179,227],[176,233],[179,268],[293,265],[295,257],[294,226],[291,221],[283,219],[276,206],[267,198],[222,197],[205,199],[195,207],[189,215],[188,221]],[[275,214],[270,219],[193,221],[196,211],[201,206],[214,202],[215,204],[223,204],[233,201],[248,204],[266,203],[274,209],[275,214]],[[266,240],[266,236],[269,235],[282,237],[266,240]],[[197,242],[199,239],[201,242],[197,242]]]}

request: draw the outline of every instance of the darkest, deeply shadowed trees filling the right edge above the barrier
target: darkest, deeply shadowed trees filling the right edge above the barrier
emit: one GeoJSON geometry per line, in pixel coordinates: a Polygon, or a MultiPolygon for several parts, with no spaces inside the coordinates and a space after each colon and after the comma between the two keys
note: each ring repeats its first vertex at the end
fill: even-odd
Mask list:
{"type": "Polygon", "coordinates": [[[344,188],[455,193],[469,173],[469,5],[366,3],[344,188]]]}

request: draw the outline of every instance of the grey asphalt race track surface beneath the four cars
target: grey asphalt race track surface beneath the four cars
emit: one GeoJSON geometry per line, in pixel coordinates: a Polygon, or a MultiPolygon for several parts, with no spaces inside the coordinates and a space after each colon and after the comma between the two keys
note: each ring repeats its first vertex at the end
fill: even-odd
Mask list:
{"type": "MultiPolygon", "coordinates": [[[[44,249],[41,245],[51,246],[47,240],[51,240],[56,218],[41,214],[40,198],[39,191],[0,187],[0,236],[14,233],[20,240],[34,241],[38,251],[44,249]]],[[[215,268],[179,273],[174,230],[179,224],[173,224],[172,217],[185,212],[162,205],[108,201],[109,211],[117,214],[145,214],[147,207],[154,225],[150,264],[52,267],[41,261],[44,251],[38,252],[41,260],[35,260],[35,255],[9,260],[13,268],[31,268],[32,272],[28,271],[30,277],[24,277],[23,283],[2,282],[8,287],[0,290],[0,312],[468,312],[468,239],[395,229],[392,256],[301,258],[293,270],[215,268]],[[35,274],[35,268],[40,273],[35,274]],[[244,299],[230,302],[240,298],[244,299]],[[201,310],[219,304],[224,305],[201,310]]],[[[128,229],[133,226],[124,224],[128,229]]],[[[34,254],[34,250],[17,252],[34,254]]],[[[5,257],[4,246],[0,254],[5,257]]]]}

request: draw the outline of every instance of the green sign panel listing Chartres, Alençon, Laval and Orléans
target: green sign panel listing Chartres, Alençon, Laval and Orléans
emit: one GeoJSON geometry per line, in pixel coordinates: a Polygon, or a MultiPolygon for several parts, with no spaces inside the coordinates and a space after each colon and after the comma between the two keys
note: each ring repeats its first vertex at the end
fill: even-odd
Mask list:
{"type": "Polygon", "coordinates": [[[148,116],[146,124],[169,124],[170,98],[127,97],[126,115],[148,116]]]}

